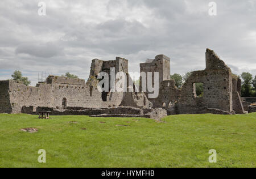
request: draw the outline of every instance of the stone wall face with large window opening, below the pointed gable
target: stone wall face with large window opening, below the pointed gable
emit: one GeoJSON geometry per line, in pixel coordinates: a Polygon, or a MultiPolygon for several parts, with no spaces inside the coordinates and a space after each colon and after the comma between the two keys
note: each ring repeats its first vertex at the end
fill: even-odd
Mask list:
{"type": "Polygon", "coordinates": [[[225,70],[193,71],[181,90],[179,113],[203,113],[208,108],[231,112],[232,72],[225,70]],[[203,83],[203,96],[195,94],[195,83],[203,83]]]}

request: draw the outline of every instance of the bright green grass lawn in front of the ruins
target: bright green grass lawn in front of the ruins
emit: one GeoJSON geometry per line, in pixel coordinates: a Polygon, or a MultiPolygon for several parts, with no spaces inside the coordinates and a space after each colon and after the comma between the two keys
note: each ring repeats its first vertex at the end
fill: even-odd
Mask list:
{"type": "Polygon", "coordinates": [[[0,114],[0,167],[255,167],[256,113],[163,120],[0,114]],[[26,127],[38,132],[20,131],[26,127]],[[46,163],[38,163],[39,149],[46,163]],[[209,163],[210,149],[217,163],[209,163]]]}

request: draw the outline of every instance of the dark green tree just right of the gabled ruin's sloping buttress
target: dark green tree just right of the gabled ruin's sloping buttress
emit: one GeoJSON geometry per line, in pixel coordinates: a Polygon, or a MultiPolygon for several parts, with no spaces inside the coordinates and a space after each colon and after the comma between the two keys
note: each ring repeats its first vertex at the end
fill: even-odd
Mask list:
{"type": "Polygon", "coordinates": [[[241,74],[242,78],[242,96],[250,97],[251,96],[251,84],[253,83],[253,75],[250,73],[243,72],[241,74]]]}

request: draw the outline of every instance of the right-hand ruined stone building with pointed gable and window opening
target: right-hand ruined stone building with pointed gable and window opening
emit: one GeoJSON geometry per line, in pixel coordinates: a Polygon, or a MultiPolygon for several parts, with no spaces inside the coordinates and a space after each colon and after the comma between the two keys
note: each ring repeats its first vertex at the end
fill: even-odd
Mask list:
{"type": "Polygon", "coordinates": [[[205,53],[206,68],[193,71],[181,89],[175,82],[165,80],[161,83],[154,107],[167,108],[168,114],[245,113],[240,98],[241,80],[232,78],[232,71],[213,50],[205,53]],[[196,83],[203,83],[202,96],[196,95],[196,83]]]}

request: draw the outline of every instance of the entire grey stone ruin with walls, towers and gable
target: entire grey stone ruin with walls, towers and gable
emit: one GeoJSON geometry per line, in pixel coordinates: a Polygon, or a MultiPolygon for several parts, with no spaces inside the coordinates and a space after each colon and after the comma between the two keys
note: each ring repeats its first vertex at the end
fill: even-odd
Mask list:
{"type": "Polygon", "coordinates": [[[0,81],[0,113],[35,114],[38,110],[51,110],[56,115],[148,117],[159,120],[171,114],[243,114],[247,113],[245,109],[255,112],[255,105],[241,100],[241,80],[232,75],[224,61],[210,49],[207,49],[205,60],[205,70],[193,71],[181,89],[170,79],[169,57],[158,55],[141,63],[141,72],[159,73],[159,95],[155,99],[148,98],[150,92],[147,91],[98,91],[100,80],[97,75],[101,71],[110,75],[114,68],[115,74],[123,72],[130,78],[128,60],[120,57],[113,61],[93,59],[87,82],[49,75],[36,87],[27,87],[14,80],[3,80],[0,81]],[[196,95],[196,83],[203,83],[202,96],[196,95]]]}

